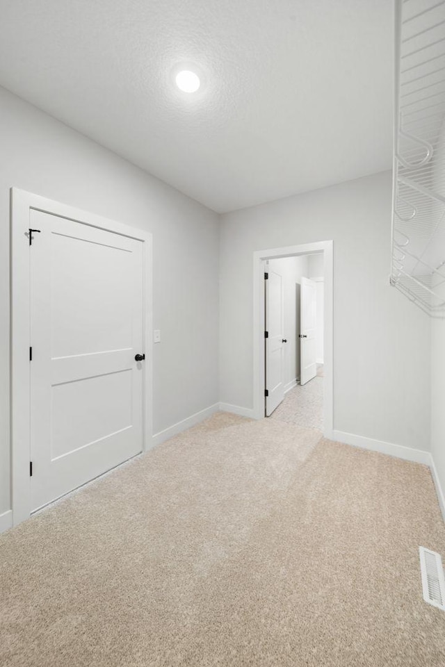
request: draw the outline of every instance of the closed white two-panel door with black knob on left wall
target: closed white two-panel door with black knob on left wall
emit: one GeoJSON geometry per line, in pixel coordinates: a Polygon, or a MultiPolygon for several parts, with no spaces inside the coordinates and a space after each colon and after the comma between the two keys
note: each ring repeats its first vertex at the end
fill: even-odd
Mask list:
{"type": "Polygon", "coordinates": [[[143,249],[31,212],[32,510],[142,451],[143,249]]]}

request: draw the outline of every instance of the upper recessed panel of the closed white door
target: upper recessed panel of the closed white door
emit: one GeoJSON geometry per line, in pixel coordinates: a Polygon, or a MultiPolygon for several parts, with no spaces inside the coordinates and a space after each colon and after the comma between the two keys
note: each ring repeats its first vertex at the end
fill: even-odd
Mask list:
{"type": "MultiPolygon", "coordinates": [[[[51,234],[54,357],[131,347],[132,302],[128,296],[134,254],[127,239],[122,248],[110,247],[99,242],[99,230],[93,231],[96,240],[51,234]]],[[[35,249],[37,243],[33,254],[35,249]]]]}

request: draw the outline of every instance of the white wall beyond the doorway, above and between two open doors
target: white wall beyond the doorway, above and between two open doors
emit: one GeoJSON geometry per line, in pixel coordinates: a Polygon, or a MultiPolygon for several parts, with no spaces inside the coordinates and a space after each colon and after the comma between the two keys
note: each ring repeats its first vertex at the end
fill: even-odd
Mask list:
{"type": "Polygon", "coordinates": [[[284,389],[300,377],[300,291],[301,277],[307,275],[307,256],[270,259],[269,270],[283,278],[284,307],[284,389]]]}

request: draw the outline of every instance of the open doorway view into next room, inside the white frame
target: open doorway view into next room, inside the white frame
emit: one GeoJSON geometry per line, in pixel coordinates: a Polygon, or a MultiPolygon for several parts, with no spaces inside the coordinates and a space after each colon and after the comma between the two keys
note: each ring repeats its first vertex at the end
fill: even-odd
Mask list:
{"type": "Polygon", "coordinates": [[[265,261],[264,415],[323,430],[323,253],[265,261]]]}

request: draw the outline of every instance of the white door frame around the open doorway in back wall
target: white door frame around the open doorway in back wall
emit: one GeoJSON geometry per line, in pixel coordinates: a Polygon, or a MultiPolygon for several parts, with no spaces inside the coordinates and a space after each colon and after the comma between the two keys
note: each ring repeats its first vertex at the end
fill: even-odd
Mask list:
{"type": "Polygon", "coordinates": [[[334,242],[316,241],[303,245],[257,250],[253,253],[253,416],[264,418],[264,266],[268,259],[323,252],[324,268],[324,365],[323,436],[332,439],[334,430],[334,242]]]}

